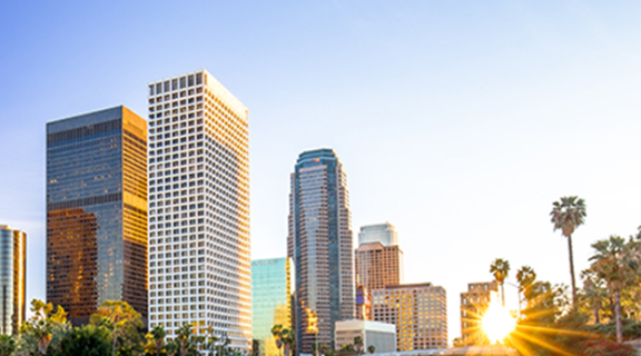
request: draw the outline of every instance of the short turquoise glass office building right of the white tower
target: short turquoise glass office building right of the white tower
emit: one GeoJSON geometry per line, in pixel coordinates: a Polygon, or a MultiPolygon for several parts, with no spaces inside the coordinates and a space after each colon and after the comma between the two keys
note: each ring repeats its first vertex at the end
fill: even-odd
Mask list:
{"type": "Polygon", "coordinates": [[[290,258],[257,259],[252,261],[252,335],[258,343],[254,354],[279,356],[272,327],[280,325],[292,329],[292,280],[294,266],[290,258]]]}

